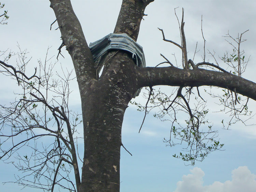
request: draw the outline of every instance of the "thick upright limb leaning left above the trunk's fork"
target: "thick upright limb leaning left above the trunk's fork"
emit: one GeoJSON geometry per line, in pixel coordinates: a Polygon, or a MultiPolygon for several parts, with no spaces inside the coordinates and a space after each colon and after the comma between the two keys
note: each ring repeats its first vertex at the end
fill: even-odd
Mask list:
{"type": "Polygon", "coordinates": [[[87,45],[81,24],[77,19],[70,0],[50,0],[61,32],[76,71],[78,82],[96,78],[93,56],[87,45]]]}

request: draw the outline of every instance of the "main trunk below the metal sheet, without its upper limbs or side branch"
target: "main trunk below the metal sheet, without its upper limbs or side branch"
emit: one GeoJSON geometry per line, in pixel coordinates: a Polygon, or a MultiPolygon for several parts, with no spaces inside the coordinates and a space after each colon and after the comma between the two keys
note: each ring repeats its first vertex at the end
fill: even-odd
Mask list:
{"type": "Polygon", "coordinates": [[[85,148],[81,192],[119,191],[123,117],[137,90],[129,75],[134,66],[132,58],[120,52],[105,66],[105,75],[81,92],[85,148]]]}

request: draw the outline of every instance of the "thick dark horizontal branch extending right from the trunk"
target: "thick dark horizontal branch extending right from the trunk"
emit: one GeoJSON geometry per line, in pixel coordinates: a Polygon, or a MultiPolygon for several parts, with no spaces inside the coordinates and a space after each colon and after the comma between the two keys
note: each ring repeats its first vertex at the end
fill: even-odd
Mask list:
{"type": "Polygon", "coordinates": [[[256,83],[230,73],[205,69],[183,70],[175,67],[137,68],[140,87],[169,86],[216,86],[236,90],[237,93],[256,100],[256,83]]]}

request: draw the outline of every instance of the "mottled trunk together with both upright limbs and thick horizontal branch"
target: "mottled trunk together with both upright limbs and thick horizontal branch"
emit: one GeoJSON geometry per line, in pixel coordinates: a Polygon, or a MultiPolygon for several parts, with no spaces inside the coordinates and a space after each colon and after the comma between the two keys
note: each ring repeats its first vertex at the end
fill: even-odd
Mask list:
{"type": "MultiPolygon", "coordinates": [[[[127,33],[136,41],[144,10],[153,1],[123,0],[114,33],[127,33]]],[[[61,39],[73,61],[82,102],[84,157],[81,179],[79,169],[74,167],[79,192],[119,191],[122,122],[132,95],[140,87],[218,86],[236,89],[237,93],[256,100],[256,84],[236,75],[203,69],[139,68],[125,51],[110,51],[107,56],[110,60],[97,79],[93,57],[70,0],[50,2],[61,39]]]]}

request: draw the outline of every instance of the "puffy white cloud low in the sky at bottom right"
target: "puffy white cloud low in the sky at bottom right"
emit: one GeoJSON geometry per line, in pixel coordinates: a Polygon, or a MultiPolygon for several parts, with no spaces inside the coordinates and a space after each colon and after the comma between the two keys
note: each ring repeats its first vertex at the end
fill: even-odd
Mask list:
{"type": "Polygon", "coordinates": [[[241,166],[232,171],[232,180],[224,183],[215,181],[209,186],[203,186],[204,172],[195,167],[191,174],[183,175],[182,181],[177,182],[174,192],[254,192],[256,189],[256,175],[247,166],[241,166]]]}

